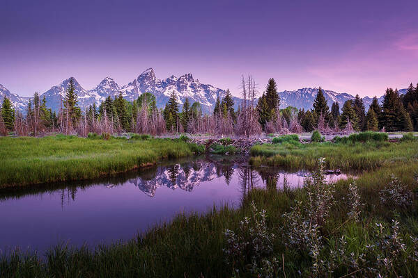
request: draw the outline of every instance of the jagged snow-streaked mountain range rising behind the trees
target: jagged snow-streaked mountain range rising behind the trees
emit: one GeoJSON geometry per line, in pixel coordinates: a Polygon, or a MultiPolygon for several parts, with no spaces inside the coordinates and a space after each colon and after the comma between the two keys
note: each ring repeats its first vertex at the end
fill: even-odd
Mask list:
{"type": "MultiPolygon", "coordinates": [[[[203,84],[199,82],[199,79],[194,79],[192,74],[184,74],[180,77],[169,76],[166,79],[158,79],[155,76],[155,72],[152,68],[142,72],[132,82],[127,85],[118,85],[111,77],[103,79],[95,88],[86,90],[80,85],[74,77],[65,79],[59,85],[55,85],[46,92],[40,95],[45,97],[47,106],[52,108],[52,111],[58,111],[61,107],[61,99],[65,96],[65,92],[68,89],[68,83],[70,79],[74,79],[75,92],[78,95],[79,106],[84,111],[88,106],[95,103],[100,105],[107,97],[114,98],[119,92],[122,92],[123,98],[128,101],[137,99],[139,95],[144,92],[152,92],[157,100],[157,107],[164,108],[167,103],[171,92],[175,92],[178,98],[180,106],[183,105],[183,101],[188,97],[191,103],[197,101],[201,104],[203,113],[211,113],[215,106],[217,97],[224,97],[226,91],[217,88],[213,85],[203,84]]],[[[399,90],[401,94],[406,92],[406,89],[399,90]]],[[[297,108],[304,108],[305,110],[312,108],[314,99],[318,93],[318,88],[302,88],[299,90],[285,90],[279,92],[280,107],[286,108],[287,106],[295,106],[297,108]]],[[[10,92],[6,87],[0,84],[0,97],[6,95],[12,102],[13,106],[18,110],[24,112],[30,97],[20,97],[17,94],[10,92]]],[[[325,99],[327,99],[328,105],[331,107],[334,101],[339,103],[342,108],[343,103],[348,99],[354,99],[353,95],[346,92],[334,92],[332,90],[324,90],[325,99]]],[[[379,97],[381,103],[383,97],[379,97]]],[[[235,102],[235,108],[240,104],[241,99],[233,97],[235,102]]],[[[364,97],[364,106],[366,109],[371,104],[371,97],[364,97]]]]}

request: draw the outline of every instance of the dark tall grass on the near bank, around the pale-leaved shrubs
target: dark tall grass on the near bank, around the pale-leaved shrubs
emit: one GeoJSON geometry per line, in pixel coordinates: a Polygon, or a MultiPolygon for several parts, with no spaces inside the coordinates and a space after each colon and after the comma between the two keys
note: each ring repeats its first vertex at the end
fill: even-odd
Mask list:
{"type": "MultiPolygon", "coordinates": [[[[389,173],[401,177],[408,188],[417,188],[413,177],[417,167],[416,161],[409,161],[361,175],[357,179],[357,186],[360,202],[365,205],[358,221],[348,216],[351,210],[348,203],[349,184],[353,180],[336,183],[335,202],[329,210],[326,223],[318,231],[325,238],[316,259],[326,263],[338,262],[349,260],[352,253],[358,256],[369,252],[366,246],[376,243],[376,223],[389,227],[394,218],[400,222],[398,238],[405,242],[408,253],[413,253],[415,245],[409,236],[418,235],[417,200],[408,208],[388,207],[380,203],[377,193],[390,181],[389,173]],[[343,249],[340,249],[341,238],[347,242],[343,249]],[[335,256],[330,256],[332,250],[338,251],[335,256]]],[[[289,234],[283,228],[287,218],[282,215],[293,211],[295,200],[307,202],[308,199],[304,188],[252,190],[244,195],[240,208],[236,210],[224,206],[219,210],[212,208],[206,215],[178,215],[173,222],[150,229],[127,243],[101,245],[95,250],[59,245],[50,250],[45,259],[39,259],[36,254],[20,252],[3,256],[0,259],[0,277],[231,277],[236,269],[239,270],[239,277],[254,277],[254,273],[248,270],[245,257],[231,265],[224,252],[228,246],[224,232],[227,229],[240,231],[242,219],[246,216],[251,219],[254,213],[251,210],[253,202],[257,208],[265,210],[266,230],[275,235],[271,238],[272,251],[268,254],[270,258],[279,259],[275,276],[281,277],[286,273],[286,277],[316,277],[312,272],[316,263],[312,254],[309,250],[286,245],[289,234]]],[[[367,254],[371,255],[371,259],[376,259],[384,254],[381,251],[371,250],[367,254]]],[[[367,266],[368,263],[362,264],[367,266]]],[[[355,263],[341,263],[332,276],[342,277],[356,270],[366,270],[363,266],[353,270],[353,265],[355,263]]],[[[418,272],[418,264],[408,260],[408,263],[394,265],[391,271],[399,277],[414,277],[418,272]]]]}

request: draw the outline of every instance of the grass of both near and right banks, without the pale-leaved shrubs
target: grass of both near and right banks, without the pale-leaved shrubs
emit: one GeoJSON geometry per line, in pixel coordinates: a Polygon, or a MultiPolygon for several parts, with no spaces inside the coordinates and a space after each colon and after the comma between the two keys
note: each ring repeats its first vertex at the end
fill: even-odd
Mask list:
{"type": "MultiPolygon", "coordinates": [[[[321,229],[325,237],[325,251],[320,254],[321,260],[327,261],[327,252],[335,248],[341,236],[345,236],[348,242],[348,254],[365,252],[366,245],[376,242],[373,240],[376,222],[387,226],[392,219],[401,222],[401,238],[411,252],[412,243],[408,238],[418,236],[418,183],[415,176],[418,173],[417,141],[324,142],[299,147],[283,143],[255,146],[251,153],[257,156],[254,159],[261,164],[279,163],[288,167],[298,165],[314,169],[317,158],[325,156],[330,167],[367,170],[356,179],[361,202],[364,203],[359,222],[349,221],[347,215],[350,210],[348,184],[353,179],[336,183],[336,202],[321,229]],[[380,203],[378,192],[389,182],[391,174],[395,174],[415,192],[412,206],[389,207],[380,203]]],[[[0,258],[0,277],[231,277],[233,266],[226,263],[223,251],[227,245],[224,231],[238,231],[240,221],[245,216],[251,216],[251,202],[265,209],[268,213],[266,225],[276,234],[271,256],[279,260],[280,266],[284,265],[284,270],[279,270],[277,275],[283,277],[286,272],[286,277],[309,277],[309,267],[314,263],[309,253],[284,245],[286,233],[283,227],[286,222],[282,215],[292,211],[296,199],[307,199],[304,188],[255,189],[243,195],[240,207],[236,210],[224,206],[221,209],[212,208],[206,215],[178,215],[173,222],[150,229],[127,243],[98,246],[94,250],[59,246],[48,252],[45,259],[40,259],[36,254],[15,252],[0,258]]],[[[376,254],[373,255],[376,258],[376,254]]],[[[237,267],[240,268],[239,277],[254,277],[243,262],[237,267]]],[[[352,271],[342,264],[332,276],[350,277],[352,271]]],[[[397,265],[394,272],[388,277],[415,277],[418,263],[408,261],[397,265]]]]}

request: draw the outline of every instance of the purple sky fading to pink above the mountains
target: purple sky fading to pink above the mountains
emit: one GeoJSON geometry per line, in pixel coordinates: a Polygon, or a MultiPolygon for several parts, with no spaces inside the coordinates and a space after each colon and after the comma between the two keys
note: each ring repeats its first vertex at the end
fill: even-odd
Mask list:
{"type": "Polygon", "coordinates": [[[75,76],[125,85],[148,67],[238,94],[318,87],[382,95],[418,82],[418,1],[20,1],[0,3],[0,83],[23,96],[75,76]]]}

